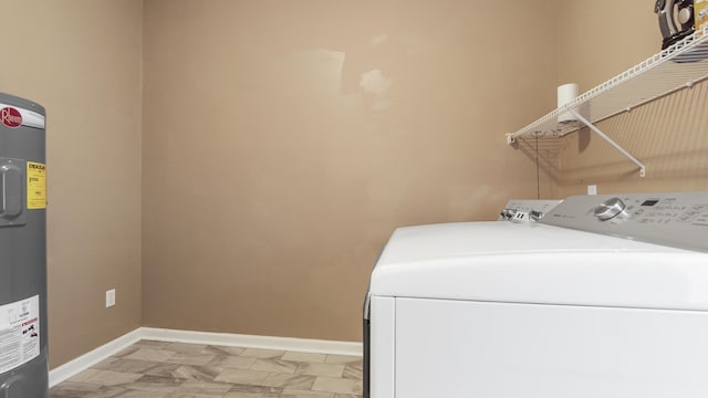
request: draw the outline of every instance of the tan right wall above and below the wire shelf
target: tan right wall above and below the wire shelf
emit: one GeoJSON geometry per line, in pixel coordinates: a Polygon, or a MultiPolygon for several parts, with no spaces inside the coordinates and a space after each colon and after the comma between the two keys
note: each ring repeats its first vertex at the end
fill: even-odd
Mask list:
{"type": "MultiPolygon", "coordinates": [[[[561,2],[559,84],[581,92],[660,51],[654,1],[561,2]]],[[[706,61],[704,61],[706,62],[706,61]]],[[[558,196],[706,190],[708,184],[708,85],[662,98],[597,126],[646,165],[646,177],[586,128],[559,140],[558,196]]]]}

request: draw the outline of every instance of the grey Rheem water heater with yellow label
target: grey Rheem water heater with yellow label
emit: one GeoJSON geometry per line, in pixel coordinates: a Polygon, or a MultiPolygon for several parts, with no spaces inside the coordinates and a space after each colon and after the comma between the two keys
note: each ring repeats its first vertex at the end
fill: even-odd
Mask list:
{"type": "Polygon", "coordinates": [[[0,93],[0,398],[49,396],[44,116],[0,93]]]}

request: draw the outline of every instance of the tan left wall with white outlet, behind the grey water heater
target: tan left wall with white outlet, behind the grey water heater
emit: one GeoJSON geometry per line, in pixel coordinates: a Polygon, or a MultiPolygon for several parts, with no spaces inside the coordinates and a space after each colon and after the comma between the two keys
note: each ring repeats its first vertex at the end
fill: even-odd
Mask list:
{"type": "Polygon", "coordinates": [[[139,0],[0,1],[0,91],[48,111],[50,365],[140,322],[139,0]],[[117,289],[106,310],[105,291],[117,289]]]}

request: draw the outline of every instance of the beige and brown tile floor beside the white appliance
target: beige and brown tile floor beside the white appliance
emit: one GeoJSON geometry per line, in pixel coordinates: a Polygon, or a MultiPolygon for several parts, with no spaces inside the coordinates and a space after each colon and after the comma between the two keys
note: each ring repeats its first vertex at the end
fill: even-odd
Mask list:
{"type": "Polygon", "coordinates": [[[50,398],[361,398],[362,358],[140,341],[50,398]]]}

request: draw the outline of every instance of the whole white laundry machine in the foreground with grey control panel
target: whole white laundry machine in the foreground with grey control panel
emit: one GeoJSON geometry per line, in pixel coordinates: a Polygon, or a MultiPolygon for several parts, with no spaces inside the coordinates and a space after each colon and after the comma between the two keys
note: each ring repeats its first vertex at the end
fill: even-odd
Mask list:
{"type": "Polygon", "coordinates": [[[364,335],[371,398],[708,397],[708,192],[397,229],[364,335]]]}

